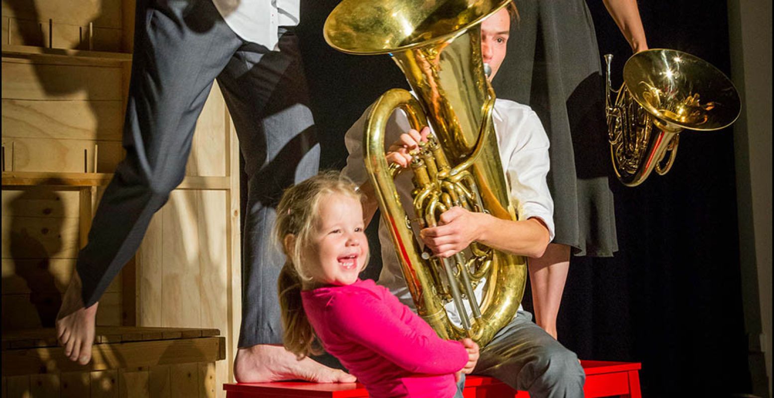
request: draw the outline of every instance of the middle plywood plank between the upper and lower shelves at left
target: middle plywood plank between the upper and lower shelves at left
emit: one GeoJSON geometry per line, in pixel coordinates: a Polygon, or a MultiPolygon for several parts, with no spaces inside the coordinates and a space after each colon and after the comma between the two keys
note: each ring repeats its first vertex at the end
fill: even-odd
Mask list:
{"type": "Polygon", "coordinates": [[[120,141],[123,101],[2,100],[3,138],[120,141]]]}

